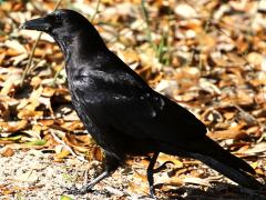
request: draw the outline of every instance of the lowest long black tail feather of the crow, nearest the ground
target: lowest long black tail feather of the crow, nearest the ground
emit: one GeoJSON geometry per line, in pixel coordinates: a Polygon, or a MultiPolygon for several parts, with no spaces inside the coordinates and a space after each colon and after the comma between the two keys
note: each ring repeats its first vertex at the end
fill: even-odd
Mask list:
{"type": "Polygon", "coordinates": [[[213,159],[209,156],[201,154],[201,153],[191,153],[191,157],[201,160],[205,164],[209,166],[211,168],[215,169],[216,171],[223,173],[225,177],[232,179],[233,181],[237,182],[238,184],[249,188],[253,190],[259,190],[265,186],[258,182],[248,173],[236,169],[227,163],[223,163],[218,160],[213,159]]]}

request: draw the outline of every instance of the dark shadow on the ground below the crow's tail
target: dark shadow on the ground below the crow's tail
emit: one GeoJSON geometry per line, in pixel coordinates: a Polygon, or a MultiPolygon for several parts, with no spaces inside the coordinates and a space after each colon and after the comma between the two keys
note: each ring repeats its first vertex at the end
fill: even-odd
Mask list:
{"type": "MultiPolygon", "coordinates": [[[[156,184],[156,188],[161,188],[156,184]]],[[[162,191],[162,199],[192,199],[192,200],[266,200],[266,190],[249,190],[238,186],[217,182],[213,187],[203,189],[198,186],[188,184],[167,191],[162,191]]]]}

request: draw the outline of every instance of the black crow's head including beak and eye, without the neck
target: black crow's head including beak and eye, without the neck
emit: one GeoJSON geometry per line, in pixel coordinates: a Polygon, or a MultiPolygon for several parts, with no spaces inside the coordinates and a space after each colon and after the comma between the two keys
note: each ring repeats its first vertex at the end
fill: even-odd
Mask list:
{"type": "Polygon", "coordinates": [[[89,21],[82,14],[73,10],[61,9],[42,18],[27,21],[20,28],[43,31],[57,38],[64,33],[72,34],[88,23],[89,21]]]}

